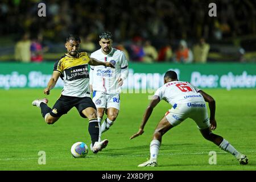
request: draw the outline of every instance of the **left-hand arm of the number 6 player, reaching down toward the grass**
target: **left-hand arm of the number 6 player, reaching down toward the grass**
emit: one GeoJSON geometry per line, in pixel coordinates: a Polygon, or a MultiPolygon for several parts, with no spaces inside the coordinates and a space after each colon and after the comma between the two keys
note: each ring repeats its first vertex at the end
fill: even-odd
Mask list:
{"type": "Polygon", "coordinates": [[[150,101],[150,104],[147,106],[147,109],[146,109],[146,111],[143,115],[141,126],[139,127],[139,131],[137,133],[135,133],[134,135],[132,135],[130,137],[130,139],[138,137],[139,135],[142,135],[144,133],[144,127],[145,127],[148,119],[150,118],[150,115],[151,115],[154,107],[156,105],[158,105],[159,102],[160,102],[159,96],[153,96],[152,97],[152,100],[150,101]]]}

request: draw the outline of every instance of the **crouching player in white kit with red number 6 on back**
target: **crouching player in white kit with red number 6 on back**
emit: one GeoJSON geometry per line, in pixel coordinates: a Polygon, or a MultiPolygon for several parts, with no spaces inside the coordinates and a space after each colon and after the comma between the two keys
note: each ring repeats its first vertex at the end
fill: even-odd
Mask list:
{"type": "Polygon", "coordinates": [[[163,135],[172,127],[179,125],[187,118],[193,119],[203,137],[222,150],[234,155],[240,164],[247,164],[248,158],[241,154],[223,137],[213,134],[212,130],[216,129],[215,120],[215,101],[207,93],[189,84],[189,82],[178,81],[177,74],[174,71],[168,71],[164,75],[164,85],[156,90],[150,105],[147,107],[141,127],[138,133],[131,136],[130,139],[143,134],[144,126],[150,117],[154,107],[160,100],[167,101],[172,105],[172,109],[168,110],[162,120],[155,129],[153,139],[150,143],[150,160],[139,164],[138,167],[157,166],[157,157],[160,150],[163,135]],[[209,103],[210,118],[206,102],[209,103]]]}

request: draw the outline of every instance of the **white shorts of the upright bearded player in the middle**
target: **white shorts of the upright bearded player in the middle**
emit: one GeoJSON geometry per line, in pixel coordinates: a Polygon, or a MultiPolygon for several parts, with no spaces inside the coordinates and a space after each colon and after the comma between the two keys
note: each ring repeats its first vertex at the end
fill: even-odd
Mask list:
{"type": "Polygon", "coordinates": [[[97,108],[110,108],[120,109],[120,96],[119,94],[108,94],[100,91],[93,91],[93,102],[97,108]]]}

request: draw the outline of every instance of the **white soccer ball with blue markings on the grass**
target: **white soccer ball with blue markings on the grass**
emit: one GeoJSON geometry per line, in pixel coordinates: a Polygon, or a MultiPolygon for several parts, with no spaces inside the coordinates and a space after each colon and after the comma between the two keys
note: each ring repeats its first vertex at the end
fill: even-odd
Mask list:
{"type": "Polygon", "coordinates": [[[88,147],[84,142],[76,142],[71,147],[71,154],[74,158],[85,158],[88,151],[88,147]]]}

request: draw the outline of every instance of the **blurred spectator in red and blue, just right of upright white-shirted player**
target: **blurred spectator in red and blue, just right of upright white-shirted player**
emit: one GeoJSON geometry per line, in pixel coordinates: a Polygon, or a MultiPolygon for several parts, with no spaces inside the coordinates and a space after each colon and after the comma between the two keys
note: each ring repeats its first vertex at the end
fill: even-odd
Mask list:
{"type": "Polygon", "coordinates": [[[145,55],[142,47],[142,38],[140,36],[135,36],[133,38],[133,43],[130,46],[130,55],[132,61],[142,61],[145,55]]]}

